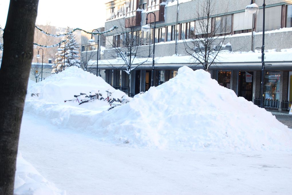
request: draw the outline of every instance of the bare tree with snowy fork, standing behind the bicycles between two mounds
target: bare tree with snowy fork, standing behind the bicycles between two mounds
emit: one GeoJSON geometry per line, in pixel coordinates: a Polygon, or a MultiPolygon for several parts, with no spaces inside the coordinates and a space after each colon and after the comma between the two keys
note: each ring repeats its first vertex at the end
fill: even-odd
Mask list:
{"type": "MultiPolygon", "coordinates": [[[[122,21],[122,20],[121,20],[122,21]]],[[[143,50],[140,45],[142,45],[142,33],[141,30],[135,29],[132,24],[134,24],[134,17],[124,18],[124,23],[120,22],[119,35],[114,36],[113,41],[110,42],[114,52],[110,53],[111,59],[117,59],[120,64],[119,67],[111,65],[112,68],[117,70],[125,71],[128,74],[128,96],[130,96],[131,91],[131,72],[138,68],[143,63],[147,62],[149,56],[144,56],[147,53],[148,47],[143,50]],[[136,60],[138,57],[147,57],[146,60],[136,60]]],[[[143,36],[146,37],[145,40],[150,39],[150,33],[143,36]]]]}

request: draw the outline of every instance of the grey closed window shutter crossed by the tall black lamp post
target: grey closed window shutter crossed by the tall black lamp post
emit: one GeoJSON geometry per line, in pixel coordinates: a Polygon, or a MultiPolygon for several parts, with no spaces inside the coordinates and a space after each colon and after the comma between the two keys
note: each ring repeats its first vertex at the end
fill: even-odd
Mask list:
{"type": "MultiPolygon", "coordinates": [[[[272,31],[281,28],[282,6],[265,8],[265,31],[272,31]]],[[[263,9],[256,15],[256,32],[263,31],[263,9]]]]}

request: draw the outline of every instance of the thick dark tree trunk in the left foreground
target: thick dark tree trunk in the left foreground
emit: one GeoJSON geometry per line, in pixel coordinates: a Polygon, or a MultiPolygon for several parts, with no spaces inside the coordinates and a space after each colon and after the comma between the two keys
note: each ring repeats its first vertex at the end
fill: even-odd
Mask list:
{"type": "Polygon", "coordinates": [[[0,69],[0,195],[13,195],[20,125],[39,0],[11,0],[0,69]]]}

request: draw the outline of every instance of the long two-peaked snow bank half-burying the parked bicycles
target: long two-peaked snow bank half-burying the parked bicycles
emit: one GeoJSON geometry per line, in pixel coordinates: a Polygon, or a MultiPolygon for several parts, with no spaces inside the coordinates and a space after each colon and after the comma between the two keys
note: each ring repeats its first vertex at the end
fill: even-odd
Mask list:
{"type": "Polygon", "coordinates": [[[193,71],[184,66],[173,79],[109,111],[106,111],[108,106],[99,106],[103,101],[78,106],[58,103],[67,98],[66,94],[73,96],[74,90],[77,93],[102,85],[110,88],[104,80],[96,81],[100,77],[94,75],[94,84],[84,82],[91,75],[78,70],[71,67],[30,86],[31,93],[39,91],[42,97],[28,98],[25,110],[45,116],[54,125],[90,132],[101,140],[133,147],[292,151],[291,129],[270,112],[220,86],[204,70],[193,71]],[[84,85],[77,87],[81,82],[84,85]]]}

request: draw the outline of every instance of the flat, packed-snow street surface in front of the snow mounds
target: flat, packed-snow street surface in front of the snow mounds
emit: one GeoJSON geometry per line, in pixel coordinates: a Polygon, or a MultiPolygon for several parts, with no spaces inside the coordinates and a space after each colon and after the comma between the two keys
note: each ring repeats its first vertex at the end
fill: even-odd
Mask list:
{"type": "Polygon", "coordinates": [[[292,155],[129,148],[24,113],[19,149],[68,195],[289,194],[292,155]]]}

